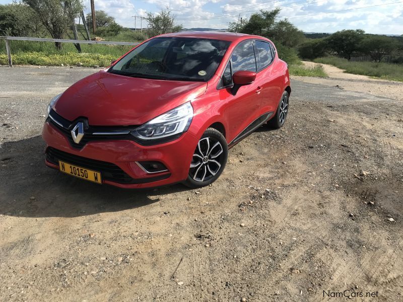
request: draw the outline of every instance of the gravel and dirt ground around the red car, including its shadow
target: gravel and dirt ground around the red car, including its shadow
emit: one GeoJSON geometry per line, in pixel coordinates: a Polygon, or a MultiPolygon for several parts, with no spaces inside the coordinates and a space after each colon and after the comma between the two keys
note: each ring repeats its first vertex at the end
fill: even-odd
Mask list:
{"type": "Polygon", "coordinates": [[[294,79],[212,186],[133,191],[43,163],[50,97],[94,69],[0,68],[0,300],[403,300],[401,101],[294,79]]]}

